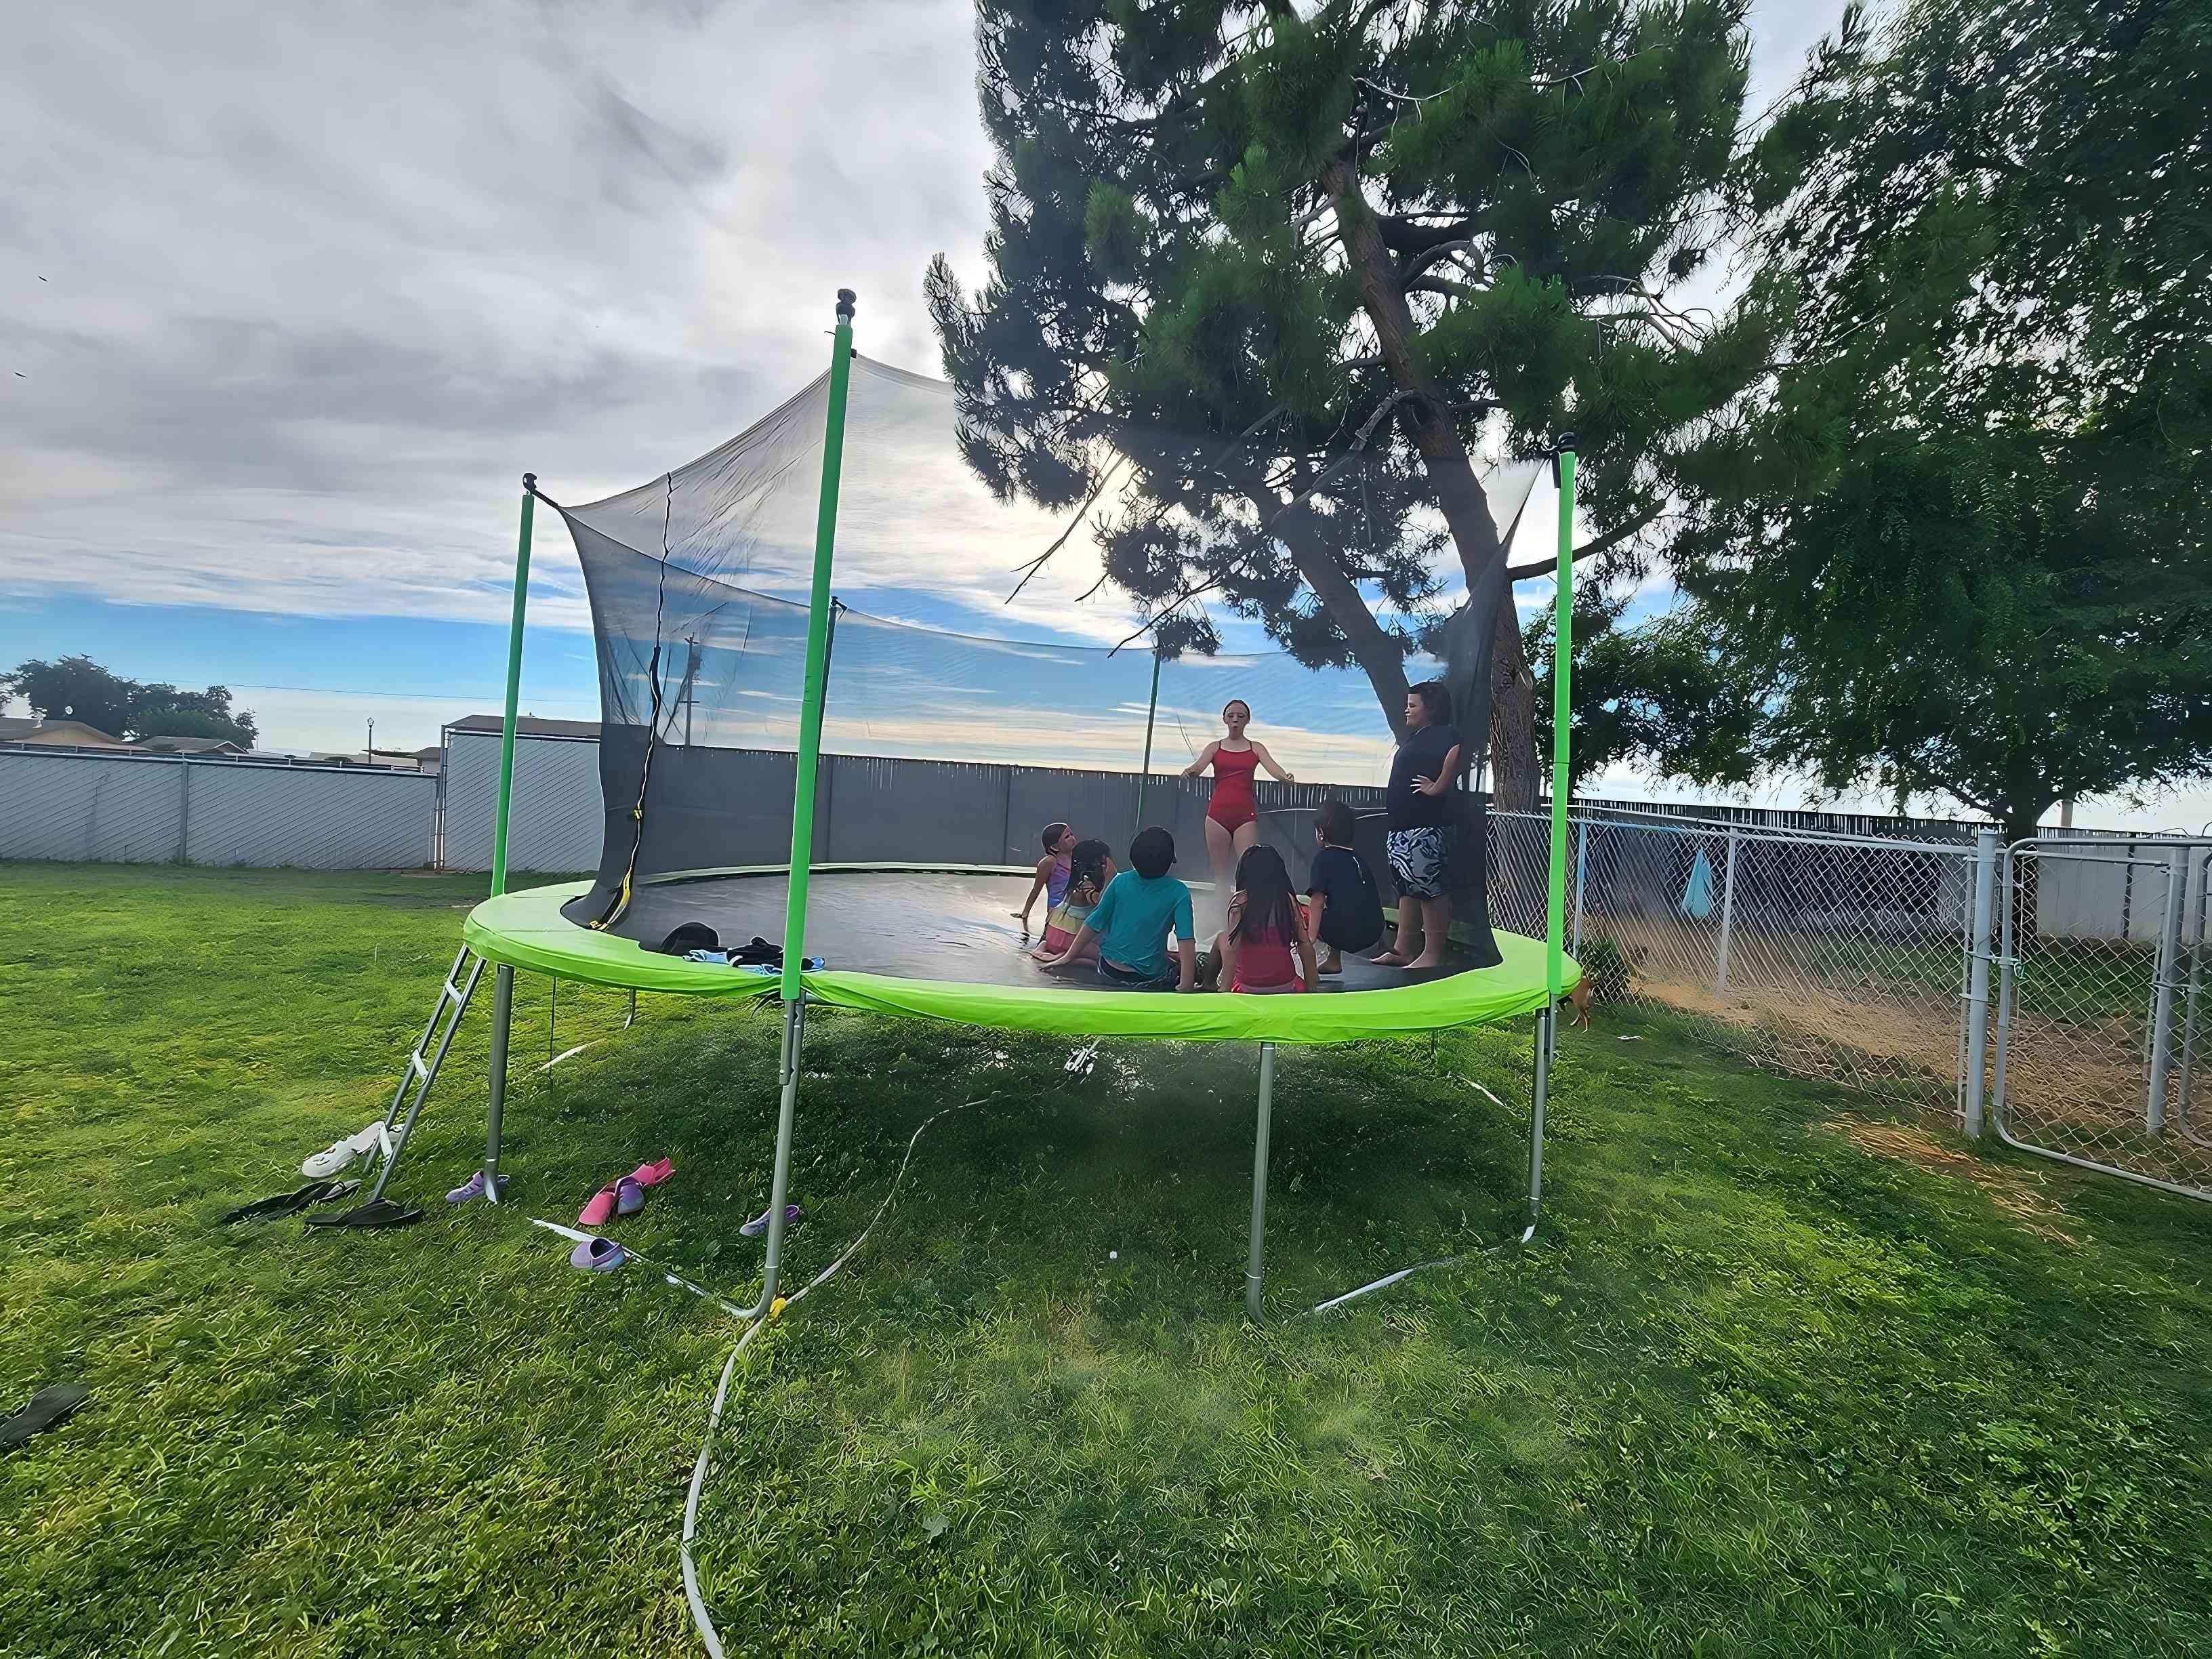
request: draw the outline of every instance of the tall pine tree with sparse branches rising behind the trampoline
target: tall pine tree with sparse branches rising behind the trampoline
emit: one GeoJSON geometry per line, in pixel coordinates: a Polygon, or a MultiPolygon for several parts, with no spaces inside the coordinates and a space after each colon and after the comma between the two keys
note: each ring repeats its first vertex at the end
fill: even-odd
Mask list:
{"type": "Polygon", "coordinates": [[[1763,285],[1672,299],[1750,177],[1741,0],[984,0],[978,44],[991,274],[927,283],[969,462],[1097,513],[1166,648],[1212,648],[1221,602],[1356,661],[1394,726],[1442,653],[1533,803],[1475,462],[1573,429],[1577,557],[1635,564],[1767,363],[1763,285]]]}

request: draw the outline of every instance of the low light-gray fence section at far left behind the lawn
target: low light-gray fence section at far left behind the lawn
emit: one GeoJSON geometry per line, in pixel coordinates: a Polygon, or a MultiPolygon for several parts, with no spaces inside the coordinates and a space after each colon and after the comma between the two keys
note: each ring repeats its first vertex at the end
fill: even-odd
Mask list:
{"type": "Polygon", "coordinates": [[[414,869],[436,812],[420,772],[0,750],[0,858],[414,869]]]}

